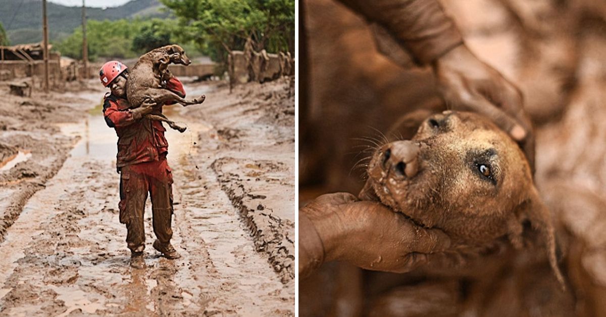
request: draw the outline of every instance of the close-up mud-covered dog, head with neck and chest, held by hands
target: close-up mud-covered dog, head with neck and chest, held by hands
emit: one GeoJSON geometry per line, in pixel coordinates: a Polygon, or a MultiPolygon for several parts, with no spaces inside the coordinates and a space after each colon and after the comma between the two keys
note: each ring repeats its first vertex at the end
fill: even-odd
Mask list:
{"type": "MultiPolygon", "coordinates": [[[[489,309],[485,308],[490,305],[487,303],[498,302],[499,296],[510,298],[507,296],[515,292],[510,291],[506,296],[485,295],[507,284],[500,275],[507,272],[506,280],[516,281],[514,285],[522,289],[516,288],[518,294],[523,294],[519,298],[532,298],[528,301],[533,304],[527,307],[567,307],[569,301],[562,298],[570,293],[562,292],[565,281],[556,261],[550,211],[534,186],[524,152],[505,132],[480,115],[452,111],[429,117],[424,111],[412,114],[397,123],[391,132],[409,139],[386,140],[376,148],[359,197],[378,200],[419,227],[441,228],[453,240],[453,248],[450,255],[430,255],[425,267],[415,273],[429,281],[432,277],[447,276],[442,281],[448,282],[435,287],[431,283],[419,284],[419,289],[409,284],[411,292],[384,298],[383,304],[385,300],[402,302],[402,294],[417,294],[428,285],[444,293],[444,285],[454,281],[460,285],[460,281],[471,280],[476,281],[471,284],[473,295],[465,297],[465,305],[489,309]],[[419,126],[420,117],[425,120],[419,126]],[[413,127],[418,127],[416,132],[413,127]],[[494,251],[495,248],[500,249],[494,251]],[[547,252],[533,251],[537,249],[547,252]],[[532,260],[528,260],[530,258],[532,260]],[[533,264],[524,266],[521,261],[533,264]],[[536,265],[550,267],[553,274],[547,270],[538,273],[536,265]],[[491,273],[486,273],[488,271],[491,273]],[[535,291],[539,287],[536,285],[543,288],[535,291]],[[548,296],[549,300],[535,301],[536,294],[548,296]],[[567,304],[561,304],[564,302],[567,304]]],[[[451,293],[460,294],[460,290],[453,289],[451,293]]],[[[461,295],[448,296],[455,302],[461,299],[461,295]]],[[[440,306],[437,302],[430,304],[440,306]]],[[[380,307],[388,305],[375,303],[371,310],[380,307]]],[[[519,309],[518,312],[524,312],[527,308],[519,309]]],[[[563,308],[561,311],[566,312],[563,308]]],[[[496,308],[494,312],[502,309],[496,308]]]]}

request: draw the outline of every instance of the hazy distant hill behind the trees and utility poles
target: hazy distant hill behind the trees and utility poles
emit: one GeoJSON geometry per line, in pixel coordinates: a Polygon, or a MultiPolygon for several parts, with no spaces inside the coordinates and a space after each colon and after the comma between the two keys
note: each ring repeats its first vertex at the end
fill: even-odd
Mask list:
{"type": "MultiPolygon", "coordinates": [[[[42,41],[41,0],[0,0],[0,22],[11,44],[42,41]]],[[[165,18],[164,5],[158,0],[133,0],[119,7],[86,9],[88,19],[165,18]]],[[[70,35],[82,23],[81,7],[47,2],[48,37],[57,41],[70,35]]]]}

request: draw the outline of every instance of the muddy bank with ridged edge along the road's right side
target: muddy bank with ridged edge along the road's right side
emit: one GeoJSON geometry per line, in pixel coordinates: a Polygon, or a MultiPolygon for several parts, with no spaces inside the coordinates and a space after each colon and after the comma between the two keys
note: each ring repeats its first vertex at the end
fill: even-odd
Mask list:
{"type": "Polygon", "coordinates": [[[198,145],[199,152],[208,155],[196,160],[211,163],[256,251],[267,256],[285,287],[291,287],[295,278],[293,78],[239,85],[224,98],[207,102],[203,111],[191,107],[184,111],[208,127],[198,145]]]}

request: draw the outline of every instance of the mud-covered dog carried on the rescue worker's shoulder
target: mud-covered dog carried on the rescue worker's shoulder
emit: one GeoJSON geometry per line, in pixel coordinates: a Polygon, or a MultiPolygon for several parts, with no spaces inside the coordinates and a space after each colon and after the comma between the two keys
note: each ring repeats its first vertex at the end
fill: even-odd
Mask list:
{"type": "MultiPolygon", "coordinates": [[[[151,100],[156,107],[164,104],[180,103],[183,106],[200,104],[204,102],[205,95],[193,100],[186,100],[184,96],[165,89],[165,84],[173,76],[168,71],[168,64],[189,65],[191,61],[185,51],[176,44],[159,47],[151,50],[139,58],[139,61],[130,70],[126,84],[128,103],[136,108],[146,100],[151,100]]],[[[151,120],[165,121],[170,128],[184,132],[186,128],[168,120],[161,112],[152,112],[145,115],[151,120]]]]}

